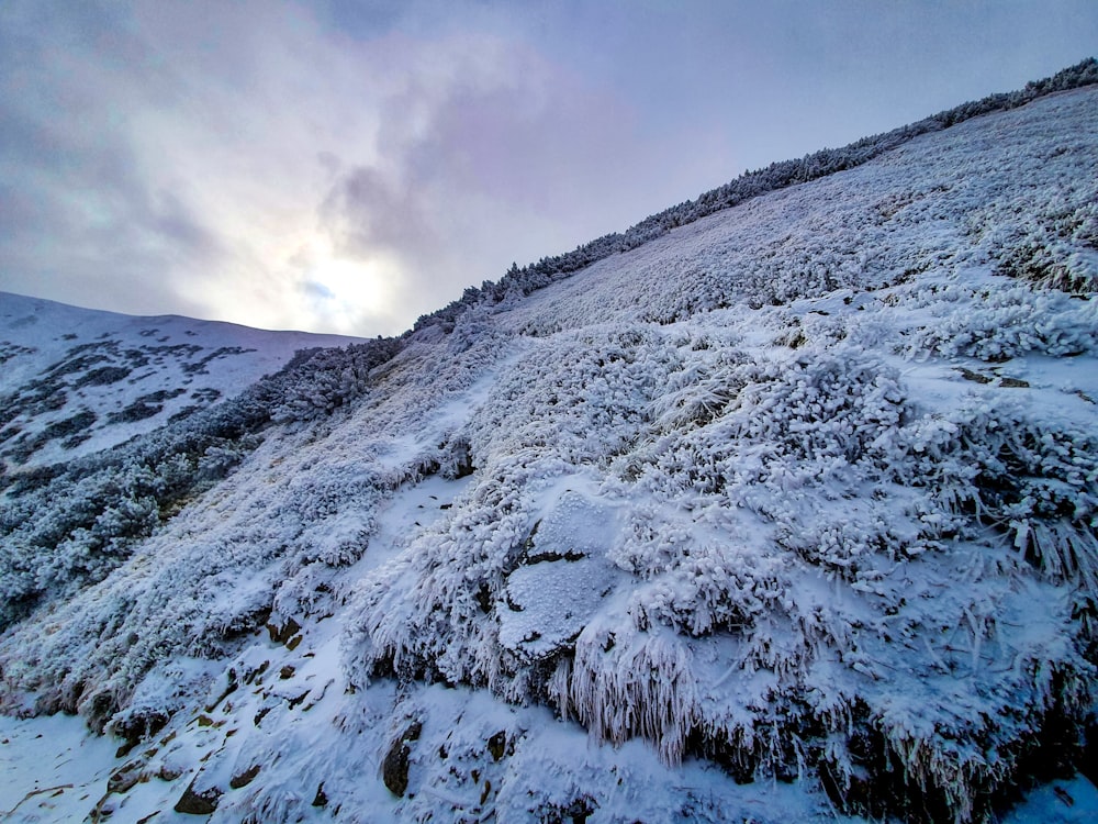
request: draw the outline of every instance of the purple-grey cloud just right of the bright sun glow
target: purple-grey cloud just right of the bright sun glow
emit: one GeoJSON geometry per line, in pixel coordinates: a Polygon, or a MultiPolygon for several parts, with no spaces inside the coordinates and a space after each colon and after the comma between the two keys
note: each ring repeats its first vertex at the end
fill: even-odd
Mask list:
{"type": "Polygon", "coordinates": [[[643,170],[683,165],[638,140],[623,100],[524,40],[396,32],[373,46],[402,67],[377,159],[338,171],[320,218],[339,255],[396,260],[395,300],[416,314],[643,218],[643,170]]]}

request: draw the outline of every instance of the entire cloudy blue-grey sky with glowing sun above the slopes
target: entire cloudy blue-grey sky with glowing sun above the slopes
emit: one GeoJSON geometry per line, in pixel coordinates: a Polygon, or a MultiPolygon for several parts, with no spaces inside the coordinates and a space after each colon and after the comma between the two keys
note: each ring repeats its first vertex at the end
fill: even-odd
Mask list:
{"type": "Polygon", "coordinates": [[[0,0],[0,290],[397,334],[1090,56],[1094,0],[0,0]]]}

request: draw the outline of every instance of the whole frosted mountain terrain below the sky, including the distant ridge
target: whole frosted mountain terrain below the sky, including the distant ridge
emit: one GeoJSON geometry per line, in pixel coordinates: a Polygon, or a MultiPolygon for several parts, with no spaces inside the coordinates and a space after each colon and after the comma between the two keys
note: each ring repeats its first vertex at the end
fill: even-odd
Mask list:
{"type": "Polygon", "coordinates": [[[1093,816],[1075,71],[399,339],[4,299],[7,820],[1093,816]]]}

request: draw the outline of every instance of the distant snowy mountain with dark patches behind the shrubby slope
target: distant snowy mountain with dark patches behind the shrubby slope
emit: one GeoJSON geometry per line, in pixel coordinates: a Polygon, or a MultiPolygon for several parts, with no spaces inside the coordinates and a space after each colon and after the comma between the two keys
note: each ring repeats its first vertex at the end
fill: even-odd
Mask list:
{"type": "Polygon", "coordinates": [[[237,394],[299,349],[358,342],[0,292],[0,458],[12,468],[98,452],[237,394]]]}

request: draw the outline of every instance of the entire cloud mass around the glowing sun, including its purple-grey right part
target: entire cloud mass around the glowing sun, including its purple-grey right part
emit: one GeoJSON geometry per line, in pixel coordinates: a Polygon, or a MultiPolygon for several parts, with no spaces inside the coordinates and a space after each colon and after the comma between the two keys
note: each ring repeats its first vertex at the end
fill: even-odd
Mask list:
{"type": "Polygon", "coordinates": [[[629,186],[627,107],[524,40],[393,14],[356,38],[294,3],[0,14],[2,288],[397,332],[629,186]]]}

